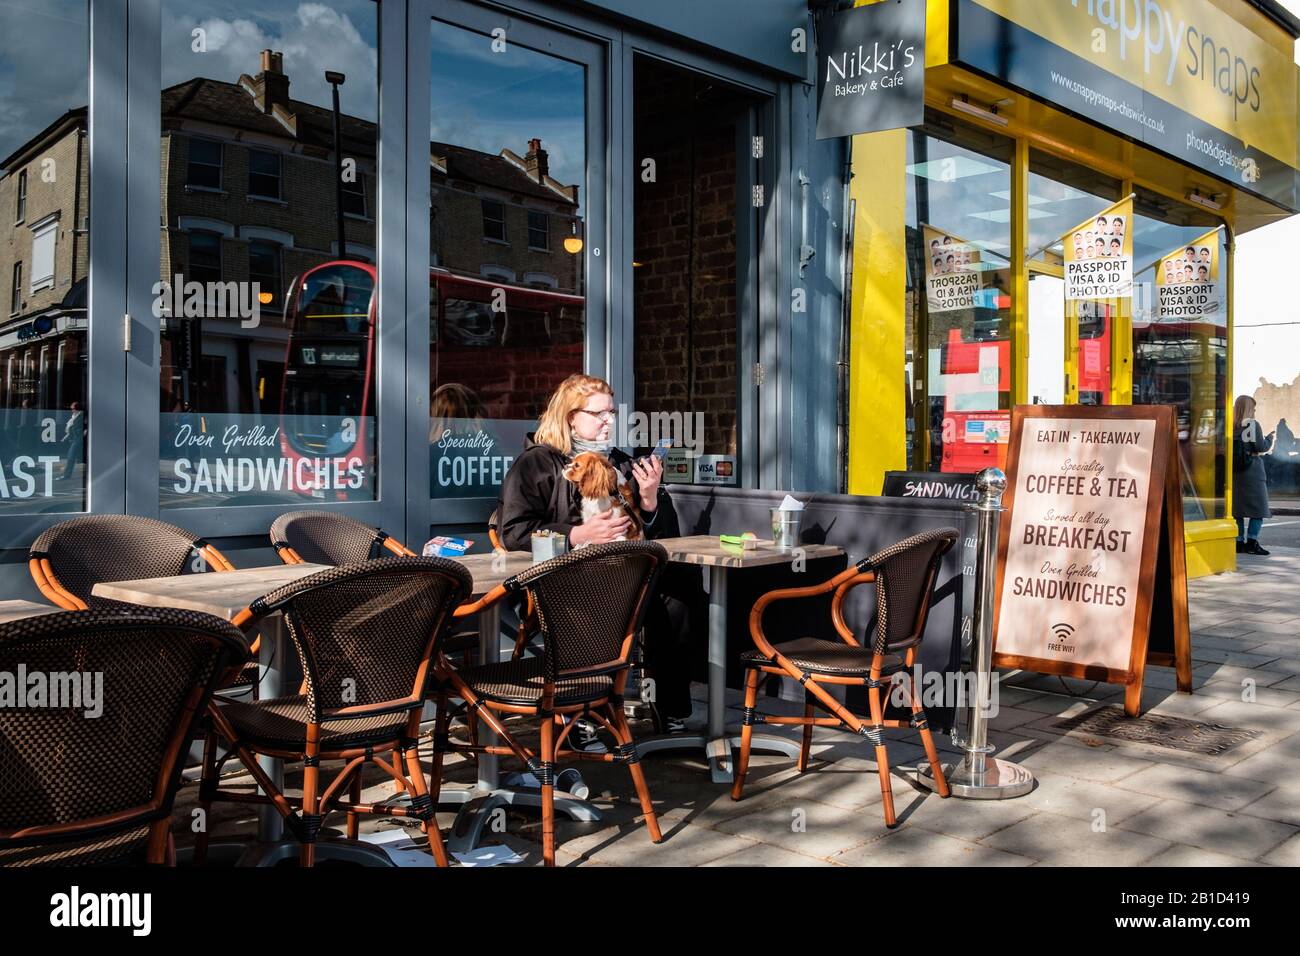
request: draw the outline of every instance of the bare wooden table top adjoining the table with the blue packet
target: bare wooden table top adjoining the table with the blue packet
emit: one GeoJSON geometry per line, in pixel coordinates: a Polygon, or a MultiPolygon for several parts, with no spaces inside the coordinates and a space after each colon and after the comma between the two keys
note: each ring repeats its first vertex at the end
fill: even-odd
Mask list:
{"type": "Polygon", "coordinates": [[[300,578],[325,571],[328,567],[328,564],[270,564],[239,571],[143,578],[135,581],[100,581],[91,593],[147,607],[183,607],[230,620],[259,597],[285,584],[292,584],[300,578]]]}

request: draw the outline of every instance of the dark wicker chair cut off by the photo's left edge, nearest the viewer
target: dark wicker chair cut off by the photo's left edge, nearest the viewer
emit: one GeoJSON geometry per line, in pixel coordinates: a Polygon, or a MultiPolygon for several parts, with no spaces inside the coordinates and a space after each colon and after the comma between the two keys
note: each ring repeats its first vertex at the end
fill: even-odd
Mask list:
{"type": "Polygon", "coordinates": [[[247,656],[237,628],[195,611],[0,624],[0,671],[62,688],[43,706],[0,706],[0,866],[174,864],[182,758],[221,675],[247,656]],[[98,700],[78,701],[87,676],[98,700]]]}

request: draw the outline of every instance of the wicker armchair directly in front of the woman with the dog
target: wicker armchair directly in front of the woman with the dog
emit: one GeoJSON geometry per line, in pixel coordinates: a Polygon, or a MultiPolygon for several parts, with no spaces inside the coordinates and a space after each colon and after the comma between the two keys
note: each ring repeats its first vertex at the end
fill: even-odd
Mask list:
{"type": "Polygon", "coordinates": [[[429,791],[434,803],[442,787],[442,761],[448,752],[514,754],[536,774],[542,788],[542,856],[555,865],[555,763],[599,760],[628,766],[645,813],[650,839],[659,843],[650,792],[646,790],[632,731],[623,713],[629,656],[646,602],[668,553],[654,541],[615,541],[569,551],[536,564],[494,588],[468,609],[480,610],[506,594],[526,593],[536,602],[542,654],[465,671],[439,659],[438,718],[433,734],[429,791]],[[498,736],[500,744],[454,743],[447,734],[447,698],[459,697],[498,736]],[[541,756],[523,747],[499,715],[521,714],[541,721],[541,756]],[[563,749],[573,722],[566,714],[597,721],[614,735],[612,753],[563,749]]]}

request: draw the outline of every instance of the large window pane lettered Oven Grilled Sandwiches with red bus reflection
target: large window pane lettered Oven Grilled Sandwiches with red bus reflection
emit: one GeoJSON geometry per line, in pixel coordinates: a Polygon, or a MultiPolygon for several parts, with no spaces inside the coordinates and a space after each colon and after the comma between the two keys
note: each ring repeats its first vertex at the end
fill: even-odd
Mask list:
{"type": "Polygon", "coordinates": [[[316,506],[400,525],[404,323],[380,302],[402,179],[380,157],[406,129],[404,44],[380,36],[404,16],[130,4],[134,514],[207,536],[316,506]]]}

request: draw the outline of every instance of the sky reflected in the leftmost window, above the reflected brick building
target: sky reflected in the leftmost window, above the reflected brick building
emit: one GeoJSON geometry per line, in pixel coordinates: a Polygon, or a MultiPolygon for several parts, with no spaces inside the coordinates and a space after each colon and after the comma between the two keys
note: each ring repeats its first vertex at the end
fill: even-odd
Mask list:
{"type": "Polygon", "coordinates": [[[86,0],[0,4],[0,159],[86,105],[88,51],[86,0]]]}

